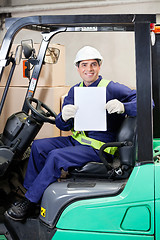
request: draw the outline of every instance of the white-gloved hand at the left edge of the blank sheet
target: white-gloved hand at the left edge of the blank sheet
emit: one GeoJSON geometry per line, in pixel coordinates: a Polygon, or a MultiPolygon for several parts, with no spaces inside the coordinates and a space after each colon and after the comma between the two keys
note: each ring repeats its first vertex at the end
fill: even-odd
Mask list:
{"type": "Polygon", "coordinates": [[[78,107],[72,104],[65,105],[62,109],[62,119],[66,122],[70,118],[74,118],[78,107]]]}

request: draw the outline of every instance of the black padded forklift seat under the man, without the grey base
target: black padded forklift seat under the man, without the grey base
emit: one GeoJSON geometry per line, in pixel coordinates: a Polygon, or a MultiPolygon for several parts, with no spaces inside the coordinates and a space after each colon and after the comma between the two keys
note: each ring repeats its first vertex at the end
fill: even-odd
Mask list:
{"type": "MultiPolygon", "coordinates": [[[[120,127],[117,134],[117,142],[115,146],[122,144],[118,147],[118,157],[115,157],[113,166],[107,163],[109,168],[107,169],[104,161],[105,158],[103,148],[100,149],[100,158],[102,163],[89,162],[81,168],[76,168],[70,171],[71,176],[75,177],[93,177],[93,178],[113,178],[113,179],[125,179],[128,178],[135,165],[136,160],[136,140],[137,140],[137,124],[136,117],[126,117],[120,127]],[[103,158],[103,159],[102,159],[103,158]],[[117,167],[118,164],[118,167],[117,167]]],[[[112,145],[113,143],[111,143],[112,145]]],[[[106,144],[109,145],[108,143],[106,144]]],[[[116,154],[117,155],[117,154],[116,154]]]]}

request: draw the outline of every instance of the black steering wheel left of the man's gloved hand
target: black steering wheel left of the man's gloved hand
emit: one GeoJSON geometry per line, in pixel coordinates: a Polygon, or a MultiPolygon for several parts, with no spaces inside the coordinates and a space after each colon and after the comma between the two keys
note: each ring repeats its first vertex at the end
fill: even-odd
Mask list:
{"type": "Polygon", "coordinates": [[[37,121],[55,124],[55,118],[57,114],[53,112],[46,104],[32,97],[26,98],[26,103],[37,121]],[[35,103],[36,106],[33,106],[32,103],[35,103]]]}

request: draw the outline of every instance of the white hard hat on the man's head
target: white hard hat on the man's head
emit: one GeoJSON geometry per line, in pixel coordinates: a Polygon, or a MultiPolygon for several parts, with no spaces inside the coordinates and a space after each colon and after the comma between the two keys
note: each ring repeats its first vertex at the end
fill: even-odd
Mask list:
{"type": "Polygon", "coordinates": [[[85,46],[77,52],[74,64],[77,65],[78,62],[89,59],[99,59],[101,63],[103,57],[101,56],[97,49],[90,46],[85,46]]]}

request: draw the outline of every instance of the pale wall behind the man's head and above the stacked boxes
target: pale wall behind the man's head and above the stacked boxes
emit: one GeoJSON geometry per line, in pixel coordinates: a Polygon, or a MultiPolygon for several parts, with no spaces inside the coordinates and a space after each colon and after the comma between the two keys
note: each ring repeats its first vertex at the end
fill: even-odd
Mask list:
{"type": "MultiPolygon", "coordinates": [[[[51,10],[41,12],[13,13],[13,17],[43,14],[125,14],[125,13],[158,13],[160,2],[129,3],[97,8],[81,8],[67,10],[51,10]]],[[[40,36],[33,32],[23,30],[15,39],[19,42],[22,38],[32,38],[34,42],[40,42],[40,36]]],[[[52,42],[63,44],[66,47],[66,85],[73,85],[80,81],[73,61],[76,52],[84,45],[96,47],[104,57],[101,74],[104,78],[124,83],[131,88],[136,87],[135,53],[133,33],[62,33],[56,35],[52,42]]]]}

